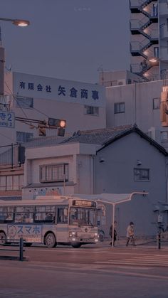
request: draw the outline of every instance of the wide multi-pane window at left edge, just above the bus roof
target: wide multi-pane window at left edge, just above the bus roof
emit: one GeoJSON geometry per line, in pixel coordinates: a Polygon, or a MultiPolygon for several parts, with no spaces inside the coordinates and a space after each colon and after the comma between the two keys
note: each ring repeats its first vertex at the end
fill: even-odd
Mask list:
{"type": "Polygon", "coordinates": [[[23,187],[23,175],[0,176],[0,191],[17,191],[23,187]]]}

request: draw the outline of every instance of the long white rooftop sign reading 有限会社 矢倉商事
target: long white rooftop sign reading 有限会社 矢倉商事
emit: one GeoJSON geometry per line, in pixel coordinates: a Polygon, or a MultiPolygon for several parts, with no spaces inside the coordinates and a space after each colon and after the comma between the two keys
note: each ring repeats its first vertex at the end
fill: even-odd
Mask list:
{"type": "Polygon", "coordinates": [[[14,73],[14,94],[105,107],[105,87],[73,80],[14,73]]]}

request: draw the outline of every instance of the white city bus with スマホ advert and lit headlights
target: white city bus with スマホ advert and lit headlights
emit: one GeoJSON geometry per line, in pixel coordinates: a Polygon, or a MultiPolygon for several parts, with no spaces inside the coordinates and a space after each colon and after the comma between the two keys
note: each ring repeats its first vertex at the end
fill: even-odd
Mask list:
{"type": "Polygon", "coordinates": [[[25,245],[43,243],[80,248],[98,242],[98,208],[91,200],[40,196],[28,201],[0,201],[0,244],[23,238],[25,245]]]}

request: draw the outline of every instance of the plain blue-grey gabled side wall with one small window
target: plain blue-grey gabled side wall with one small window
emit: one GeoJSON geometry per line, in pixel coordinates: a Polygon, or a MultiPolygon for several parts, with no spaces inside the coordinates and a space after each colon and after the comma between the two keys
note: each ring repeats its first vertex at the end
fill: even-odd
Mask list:
{"type": "MultiPolygon", "coordinates": [[[[95,193],[132,193],[147,191],[129,203],[117,205],[119,233],[126,235],[130,221],[135,222],[137,235],[156,233],[157,213],[154,204],[167,202],[165,156],[139,135],[132,133],[98,151],[95,164],[95,193]],[[105,161],[100,163],[100,157],[105,161]],[[141,165],[137,166],[137,160],[141,165]],[[134,168],[149,169],[149,181],[134,181],[134,168]]],[[[107,225],[112,221],[112,213],[107,225]]],[[[167,225],[167,213],[164,215],[167,225]]]]}

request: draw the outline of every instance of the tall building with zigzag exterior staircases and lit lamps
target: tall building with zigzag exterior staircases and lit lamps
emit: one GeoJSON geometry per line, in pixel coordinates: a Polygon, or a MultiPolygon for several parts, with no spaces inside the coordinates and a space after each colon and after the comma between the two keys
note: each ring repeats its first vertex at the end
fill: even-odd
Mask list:
{"type": "Polygon", "coordinates": [[[167,0],[130,0],[130,70],[142,80],[167,75],[167,20],[167,0]]]}

